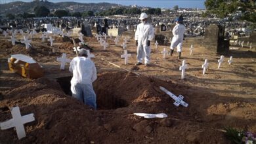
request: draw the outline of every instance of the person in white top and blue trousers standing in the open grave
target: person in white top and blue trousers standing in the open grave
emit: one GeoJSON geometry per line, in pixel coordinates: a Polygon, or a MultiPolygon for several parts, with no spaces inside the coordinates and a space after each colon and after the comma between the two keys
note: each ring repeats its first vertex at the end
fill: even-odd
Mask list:
{"type": "Polygon", "coordinates": [[[87,51],[82,48],[79,56],[70,62],[70,72],[73,73],[71,91],[74,98],[96,109],[96,94],[93,90],[93,82],[97,79],[96,67],[87,57],[87,51]]]}

